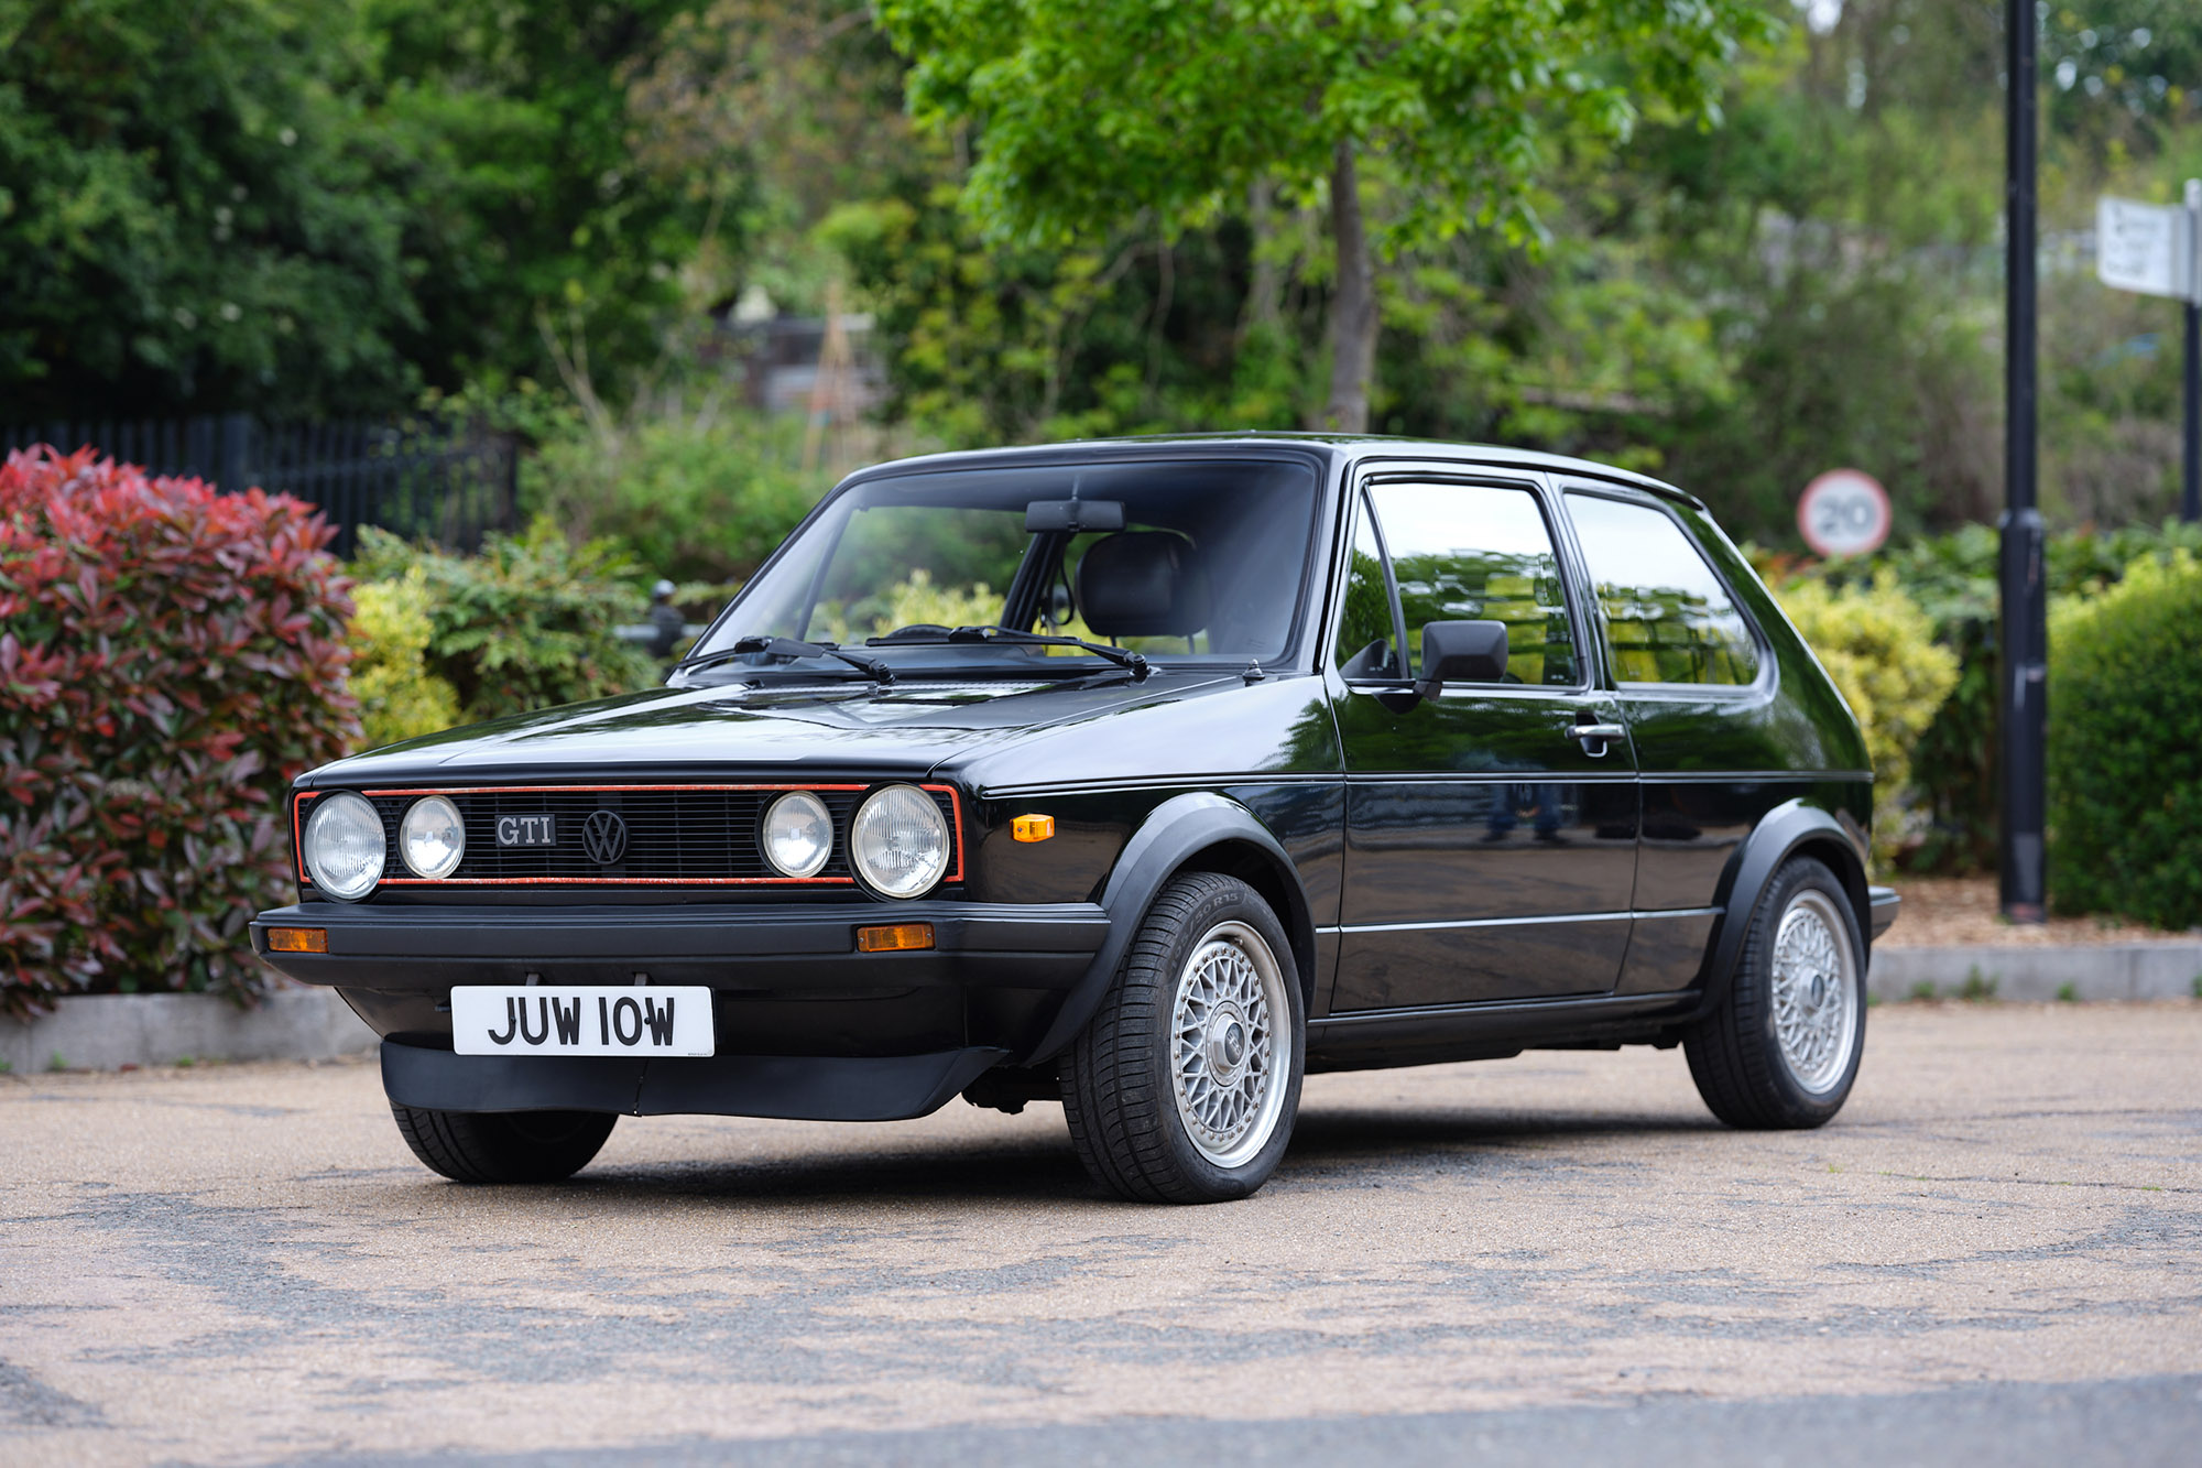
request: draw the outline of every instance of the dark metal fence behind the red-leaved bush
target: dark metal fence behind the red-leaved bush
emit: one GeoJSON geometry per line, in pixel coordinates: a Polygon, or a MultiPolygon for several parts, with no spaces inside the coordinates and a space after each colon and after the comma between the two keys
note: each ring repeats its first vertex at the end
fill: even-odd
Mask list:
{"type": "Polygon", "coordinates": [[[0,428],[0,450],[90,445],[152,474],[196,474],[220,489],[258,485],[315,505],[337,527],[337,555],[379,525],[407,540],[473,551],[515,529],[520,445],[511,434],[436,419],[262,423],[244,412],[159,421],[59,421],[0,428]]]}

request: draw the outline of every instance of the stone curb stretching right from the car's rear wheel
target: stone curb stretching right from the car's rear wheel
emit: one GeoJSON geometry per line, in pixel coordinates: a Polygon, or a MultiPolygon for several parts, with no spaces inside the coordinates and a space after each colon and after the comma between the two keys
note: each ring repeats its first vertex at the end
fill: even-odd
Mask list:
{"type": "Polygon", "coordinates": [[[1876,948],[1865,976],[1874,999],[2195,999],[2198,985],[2202,943],[1876,948]]]}

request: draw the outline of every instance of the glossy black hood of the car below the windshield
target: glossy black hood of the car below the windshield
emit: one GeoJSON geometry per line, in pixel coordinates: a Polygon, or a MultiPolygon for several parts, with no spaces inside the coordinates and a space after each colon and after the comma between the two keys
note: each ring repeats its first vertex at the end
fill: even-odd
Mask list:
{"type": "Polygon", "coordinates": [[[308,785],[458,778],[570,778],[762,767],[927,774],[942,760],[1039,730],[1238,686],[1216,674],[1110,674],[1070,681],[909,681],[654,688],[570,703],[324,765],[308,785]]]}

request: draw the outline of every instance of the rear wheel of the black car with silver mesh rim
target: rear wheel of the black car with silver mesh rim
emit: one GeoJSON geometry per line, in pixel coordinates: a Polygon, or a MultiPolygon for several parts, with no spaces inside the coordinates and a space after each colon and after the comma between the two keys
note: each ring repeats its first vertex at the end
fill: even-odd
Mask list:
{"type": "Polygon", "coordinates": [[[1795,857],[1766,884],[1729,996],[1682,1051],[1729,1126],[1825,1126],[1843,1109],[1865,1054],[1865,941],[1825,864],[1795,857]]]}

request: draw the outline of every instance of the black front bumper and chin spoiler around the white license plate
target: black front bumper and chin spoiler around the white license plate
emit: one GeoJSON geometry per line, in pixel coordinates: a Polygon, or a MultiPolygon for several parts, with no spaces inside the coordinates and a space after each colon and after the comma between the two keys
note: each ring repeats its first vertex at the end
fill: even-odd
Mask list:
{"type": "Polygon", "coordinates": [[[253,950],[337,987],[383,1036],[392,1100],[438,1111],[923,1115],[995,1062],[1028,1062],[1110,935],[1094,904],[374,906],[262,913],[253,950]],[[859,952],[857,930],[931,924],[934,948],[859,952]],[[328,952],[269,952],[319,928],[328,952]],[[718,1054],[685,1060],[451,1054],[451,987],[711,990],[718,1054]]]}

